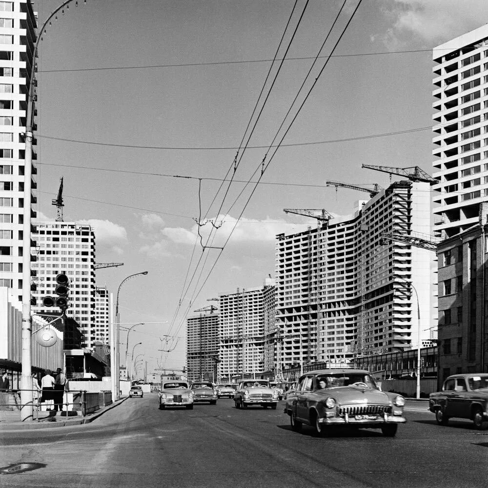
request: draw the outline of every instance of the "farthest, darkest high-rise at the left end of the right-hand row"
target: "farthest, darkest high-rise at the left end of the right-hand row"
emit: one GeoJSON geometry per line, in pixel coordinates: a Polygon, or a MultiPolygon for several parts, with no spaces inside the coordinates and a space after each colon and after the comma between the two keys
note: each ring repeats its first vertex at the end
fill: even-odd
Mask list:
{"type": "Polygon", "coordinates": [[[186,319],[186,367],[188,380],[216,381],[219,355],[219,312],[208,307],[186,319]]]}

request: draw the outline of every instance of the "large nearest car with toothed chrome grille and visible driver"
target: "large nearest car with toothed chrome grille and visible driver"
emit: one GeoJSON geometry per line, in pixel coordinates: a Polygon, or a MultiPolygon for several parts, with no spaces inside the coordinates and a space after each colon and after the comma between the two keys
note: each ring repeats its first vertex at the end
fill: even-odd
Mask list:
{"type": "Polygon", "coordinates": [[[303,425],[315,429],[317,436],[333,433],[333,427],[379,428],[394,437],[403,415],[405,398],[386,393],[362,369],[320,369],[309,371],[288,394],[285,413],[292,430],[303,425]]]}

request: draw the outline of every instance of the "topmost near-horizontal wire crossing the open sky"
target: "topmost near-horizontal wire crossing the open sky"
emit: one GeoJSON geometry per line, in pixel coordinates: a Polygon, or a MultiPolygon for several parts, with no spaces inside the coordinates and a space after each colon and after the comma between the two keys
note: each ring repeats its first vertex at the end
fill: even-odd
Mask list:
{"type": "MultiPolygon", "coordinates": [[[[440,49],[437,49],[440,50],[440,49]]],[[[358,58],[363,56],[382,56],[387,54],[414,54],[414,53],[426,53],[436,51],[436,49],[408,49],[405,51],[380,51],[376,53],[353,53],[353,54],[334,54],[331,58],[358,58]]],[[[326,56],[320,56],[319,58],[326,58],[326,56]]],[[[286,58],[285,61],[302,61],[313,60],[314,56],[299,56],[295,58],[286,58]]],[[[151,68],[179,68],[179,67],[191,67],[191,66],[216,66],[225,64],[252,64],[261,62],[270,62],[271,59],[261,60],[230,60],[230,61],[207,61],[207,62],[188,62],[188,63],[173,63],[173,64],[146,64],[141,66],[102,66],[95,68],[71,68],[71,69],[44,69],[39,70],[38,73],[70,73],[77,71],[106,71],[116,69],[151,69],[151,68]]],[[[277,59],[276,61],[283,61],[277,59]]]]}

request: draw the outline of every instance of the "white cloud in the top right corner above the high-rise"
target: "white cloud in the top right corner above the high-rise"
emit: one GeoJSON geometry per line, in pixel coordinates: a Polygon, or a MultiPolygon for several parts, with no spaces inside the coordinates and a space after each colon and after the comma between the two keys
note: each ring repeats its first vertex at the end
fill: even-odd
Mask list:
{"type": "Polygon", "coordinates": [[[412,40],[435,46],[483,25],[486,0],[378,0],[390,26],[371,40],[390,49],[412,40]]]}

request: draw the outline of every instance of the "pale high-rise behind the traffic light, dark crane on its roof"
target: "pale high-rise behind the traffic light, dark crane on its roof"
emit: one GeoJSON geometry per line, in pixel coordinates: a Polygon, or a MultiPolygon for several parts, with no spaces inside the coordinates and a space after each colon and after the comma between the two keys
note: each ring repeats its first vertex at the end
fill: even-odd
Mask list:
{"type": "Polygon", "coordinates": [[[96,339],[93,330],[96,317],[95,292],[95,233],[90,225],[76,222],[43,222],[36,224],[33,239],[37,247],[37,290],[33,313],[59,311],[42,306],[42,298],[56,296],[56,276],[64,273],[70,279],[70,307],[66,311],[79,324],[84,335],[82,347],[92,347],[96,339]]]}

